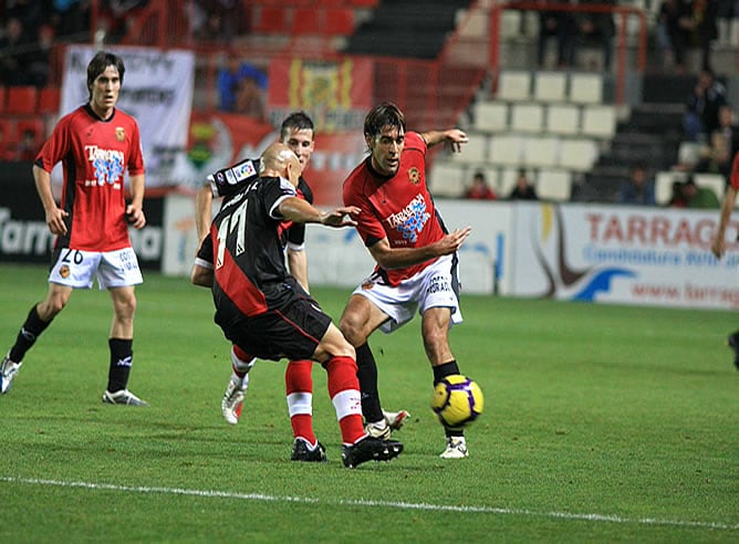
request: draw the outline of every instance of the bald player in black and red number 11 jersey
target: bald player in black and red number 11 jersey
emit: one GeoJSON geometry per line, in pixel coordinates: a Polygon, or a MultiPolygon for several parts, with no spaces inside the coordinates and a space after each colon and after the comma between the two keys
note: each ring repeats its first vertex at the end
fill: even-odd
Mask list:
{"type": "Polygon", "coordinates": [[[342,433],[342,458],[353,468],[389,460],[399,442],[364,432],[354,348],[318,303],[288,273],[285,221],[329,227],[356,224],[356,208],[322,212],[298,197],[301,167],[284,144],[262,154],[260,177],[223,202],[198,250],[192,282],[212,285],[216,323],[225,336],[256,357],[312,359],[329,374],[329,394],[342,433]],[[214,263],[210,268],[209,263],[214,263]]]}

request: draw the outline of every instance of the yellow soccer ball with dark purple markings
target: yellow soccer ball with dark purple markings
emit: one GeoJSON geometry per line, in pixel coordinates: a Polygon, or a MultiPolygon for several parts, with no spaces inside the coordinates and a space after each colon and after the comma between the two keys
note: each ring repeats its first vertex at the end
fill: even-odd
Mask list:
{"type": "Polygon", "coordinates": [[[485,398],[482,389],[461,374],[446,376],[436,386],[431,396],[431,410],[445,427],[465,427],[482,414],[485,398]]]}

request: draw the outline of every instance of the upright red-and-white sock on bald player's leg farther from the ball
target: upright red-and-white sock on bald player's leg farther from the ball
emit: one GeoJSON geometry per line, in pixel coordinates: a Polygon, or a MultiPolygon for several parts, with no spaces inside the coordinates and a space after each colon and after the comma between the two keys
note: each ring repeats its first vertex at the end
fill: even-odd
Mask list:
{"type": "Polygon", "coordinates": [[[303,438],[313,446],[313,362],[291,360],[284,373],[288,412],[294,438],[303,438]]]}

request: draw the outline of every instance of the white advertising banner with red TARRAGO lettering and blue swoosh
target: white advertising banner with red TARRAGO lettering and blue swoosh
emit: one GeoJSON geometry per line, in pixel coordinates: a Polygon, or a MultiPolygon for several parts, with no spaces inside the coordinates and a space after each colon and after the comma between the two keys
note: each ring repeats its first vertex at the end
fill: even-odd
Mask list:
{"type": "MultiPolygon", "coordinates": [[[[718,210],[516,205],[506,294],[683,307],[739,306],[739,244],[710,252],[718,210]]],[[[736,240],[732,220],[727,240],[736,240]]]]}

